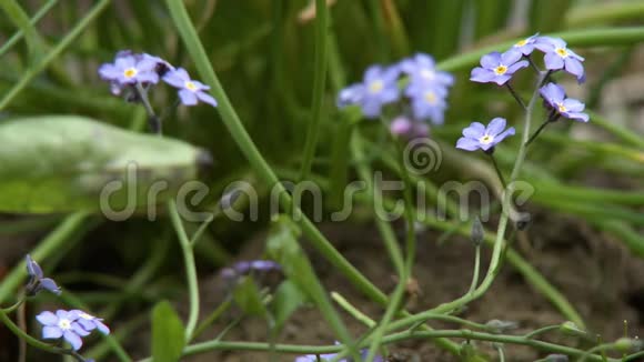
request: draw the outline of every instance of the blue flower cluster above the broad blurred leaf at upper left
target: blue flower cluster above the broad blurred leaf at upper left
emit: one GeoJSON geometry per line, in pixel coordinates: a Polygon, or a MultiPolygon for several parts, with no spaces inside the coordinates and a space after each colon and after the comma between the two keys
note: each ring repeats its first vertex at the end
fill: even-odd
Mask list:
{"type": "Polygon", "coordinates": [[[184,105],[201,101],[217,107],[214,98],[207,92],[210,87],[192,80],[185,69],[175,68],[155,56],[120,51],[112,63],[99,68],[99,76],[110,82],[114,95],[120,95],[124,90],[138,94],[137,87],[148,89],[162,80],[179,90],[179,99],[184,105]]]}

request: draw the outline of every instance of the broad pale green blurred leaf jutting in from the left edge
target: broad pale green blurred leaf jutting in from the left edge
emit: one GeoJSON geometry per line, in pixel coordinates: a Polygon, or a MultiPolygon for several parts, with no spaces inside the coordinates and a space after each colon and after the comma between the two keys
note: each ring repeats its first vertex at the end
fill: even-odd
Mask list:
{"type": "Polygon", "coordinates": [[[88,118],[7,121],[0,123],[0,211],[122,211],[161,203],[197,177],[202,157],[188,143],[88,118]],[[167,188],[153,194],[152,184],[167,188]]]}

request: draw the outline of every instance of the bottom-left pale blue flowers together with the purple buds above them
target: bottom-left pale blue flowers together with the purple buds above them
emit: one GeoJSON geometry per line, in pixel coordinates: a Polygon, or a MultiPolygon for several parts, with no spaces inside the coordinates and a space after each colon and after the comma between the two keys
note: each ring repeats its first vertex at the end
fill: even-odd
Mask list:
{"type": "MultiPolygon", "coordinates": [[[[29,274],[29,282],[26,286],[28,295],[36,295],[41,290],[48,290],[57,295],[61,294],[60,288],[52,279],[43,278],[42,269],[31,259],[31,255],[27,255],[26,263],[29,274]]],[[[58,310],[56,313],[44,311],[38,314],[36,320],[42,324],[42,339],[58,340],[62,338],[71,344],[74,351],[82,346],[82,338],[88,336],[93,330],[110,334],[110,329],[102,319],[81,310],[58,310]]]]}

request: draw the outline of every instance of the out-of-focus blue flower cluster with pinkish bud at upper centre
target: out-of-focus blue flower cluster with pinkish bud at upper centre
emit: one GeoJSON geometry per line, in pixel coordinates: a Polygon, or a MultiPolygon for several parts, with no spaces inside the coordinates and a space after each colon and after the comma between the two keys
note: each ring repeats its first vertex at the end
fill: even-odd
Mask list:
{"type": "Polygon", "coordinates": [[[444,122],[449,89],[454,77],[440,71],[429,54],[417,53],[390,67],[372,66],[366,69],[362,82],[349,86],[338,95],[338,107],[359,105],[364,117],[375,119],[382,109],[404,95],[411,111],[401,114],[390,124],[392,133],[409,138],[426,137],[429,125],[444,122]],[[401,81],[400,76],[406,76],[401,81]],[[399,84],[406,84],[401,91],[399,84]]]}

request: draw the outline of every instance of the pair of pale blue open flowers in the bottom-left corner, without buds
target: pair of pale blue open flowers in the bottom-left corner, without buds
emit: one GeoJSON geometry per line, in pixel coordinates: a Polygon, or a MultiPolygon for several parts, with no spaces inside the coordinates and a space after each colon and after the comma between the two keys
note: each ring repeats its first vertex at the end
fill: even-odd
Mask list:
{"type": "Polygon", "coordinates": [[[42,324],[42,339],[64,339],[74,351],[82,346],[82,338],[90,335],[93,330],[102,334],[110,334],[110,329],[101,319],[90,315],[80,310],[58,310],[56,313],[44,311],[36,319],[42,324]]]}

